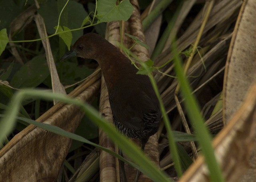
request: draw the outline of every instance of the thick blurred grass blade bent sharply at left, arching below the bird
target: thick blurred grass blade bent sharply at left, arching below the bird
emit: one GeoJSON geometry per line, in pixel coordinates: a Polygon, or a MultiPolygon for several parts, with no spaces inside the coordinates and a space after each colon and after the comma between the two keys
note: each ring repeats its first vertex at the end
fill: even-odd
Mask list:
{"type": "MultiPolygon", "coordinates": [[[[124,151],[124,153],[126,153],[126,155],[137,164],[135,165],[132,162],[128,162],[130,165],[138,168],[154,181],[169,181],[166,174],[164,172],[161,172],[156,167],[156,165],[147,156],[145,156],[142,153],[142,151],[132,141],[130,141],[127,137],[117,132],[116,128],[113,125],[107,123],[106,120],[100,116],[98,111],[96,111],[89,104],[82,102],[81,100],[68,98],[67,96],[64,96],[62,94],[53,94],[51,92],[29,90],[29,89],[22,90],[14,94],[11,100],[11,103],[8,106],[8,109],[5,112],[5,117],[1,119],[0,123],[15,123],[16,115],[18,114],[20,103],[25,98],[42,98],[46,100],[56,99],[68,104],[75,104],[76,106],[81,108],[81,110],[88,116],[88,118],[94,121],[105,133],[107,133],[110,139],[112,139],[112,141],[117,143],[118,147],[120,147],[120,149],[122,149],[122,151],[124,151]]],[[[30,120],[30,122],[33,122],[33,120],[30,120]]],[[[73,133],[68,133],[56,126],[46,125],[45,123],[39,123],[36,121],[34,122],[35,123],[33,124],[38,126],[40,125],[40,127],[44,127],[44,129],[47,129],[48,131],[52,131],[60,135],[63,135],[63,133],[66,133],[68,137],[74,139],[75,134],[73,133]]],[[[79,141],[84,142],[84,138],[80,137],[79,135],[76,135],[76,139],[79,139],[79,141]]],[[[94,146],[96,145],[94,143],[90,143],[90,144],[94,146]]],[[[98,146],[98,147],[101,148],[102,150],[105,150],[101,146],[98,146]]],[[[120,159],[120,156],[117,155],[116,153],[112,151],[108,151],[108,153],[120,159]]]]}

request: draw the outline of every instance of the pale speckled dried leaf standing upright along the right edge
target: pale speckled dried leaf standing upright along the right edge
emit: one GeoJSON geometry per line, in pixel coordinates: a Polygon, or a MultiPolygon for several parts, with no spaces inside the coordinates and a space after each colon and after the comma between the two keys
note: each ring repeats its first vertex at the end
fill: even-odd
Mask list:
{"type": "MultiPolygon", "coordinates": [[[[238,16],[238,20],[236,22],[234,35],[230,43],[230,49],[228,51],[228,58],[226,62],[223,88],[223,117],[225,123],[229,123],[229,119],[232,117],[232,115],[236,114],[240,105],[244,103],[250,86],[256,81],[255,16],[256,2],[254,0],[244,0],[240,14],[238,16]]],[[[251,100],[251,102],[255,102],[255,100],[251,100]]],[[[247,129],[249,130],[250,126],[248,126],[247,129]]],[[[250,141],[250,137],[251,136],[243,137],[243,142],[245,143],[244,145],[250,141]]],[[[243,151],[238,150],[236,155],[238,158],[241,158],[243,153],[243,151]]],[[[246,153],[246,157],[250,157],[250,169],[246,170],[244,176],[240,176],[240,178],[236,178],[236,180],[239,179],[239,181],[254,181],[256,179],[255,141],[253,144],[253,154],[250,153],[250,151],[246,151],[246,153]]],[[[237,168],[241,168],[240,164],[236,164],[236,166],[237,168]]],[[[235,168],[234,170],[238,169],[235,168]]]]}

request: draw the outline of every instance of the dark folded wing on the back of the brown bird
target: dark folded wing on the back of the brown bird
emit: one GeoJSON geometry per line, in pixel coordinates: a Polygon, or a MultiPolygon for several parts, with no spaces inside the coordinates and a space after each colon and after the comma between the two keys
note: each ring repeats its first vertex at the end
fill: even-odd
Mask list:
{"type": "MultiPolygon", "coordinates": [[[[136,86],[125,86],[124,84],[118,89],[113,89],[109,94],[110,106],[116,121],[124,127],[135,131],[150,127],[148,123],[154,125],[153,121],[158,115],[158,104],[148,96],[142,88],[136,86]]],[[[159,121],[158,121],[159,122],[159,121]]]]}

